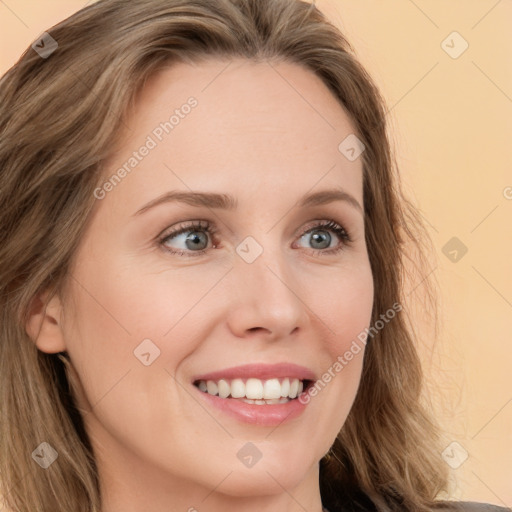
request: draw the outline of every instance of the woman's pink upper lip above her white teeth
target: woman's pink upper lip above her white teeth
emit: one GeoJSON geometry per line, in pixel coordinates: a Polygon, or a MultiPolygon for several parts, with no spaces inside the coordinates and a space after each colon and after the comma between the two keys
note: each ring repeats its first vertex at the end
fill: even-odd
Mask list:
{"type": "Polygon", "coordinates": [[[290,377],[299,380],[316,380],[314,372],[305,366],[294,363],[277,364],[245,364],[242,366],[233,366],[223,370],[217,370],[210,373],[204,373],[193,377],[192,381],[220,379],[272,379],[290,377]]]}

